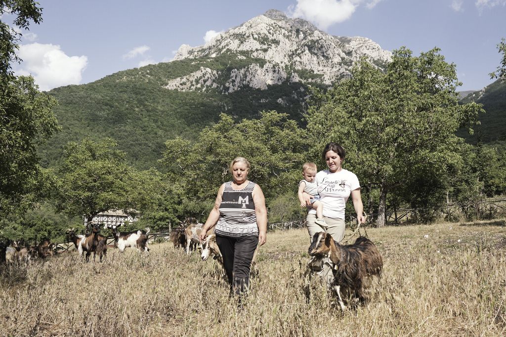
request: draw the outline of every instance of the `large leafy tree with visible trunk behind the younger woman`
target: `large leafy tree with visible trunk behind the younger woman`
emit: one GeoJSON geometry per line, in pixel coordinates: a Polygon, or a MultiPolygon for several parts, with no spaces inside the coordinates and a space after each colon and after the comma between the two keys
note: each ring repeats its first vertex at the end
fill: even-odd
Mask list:
{"type": "MultiPolygon", "coordinates": [[[[435,48],[419,57],[394,51],[386,73],[362,59],[352,77],[326,94],[317,92],[308,112],[308,131],[324,144],[341,143],[344,167],[361,184],[379,189],[376,224],[385,225],[389,192],[424,177],[442,179],[458,164],[459,127],[475,123],[481,106],[459,105],[455,65],[435,48]]],[[[425,179],[426,180],[426,179],[425,179]]],[[[428,192],[426,192],[428,193],[428,192]]]]}

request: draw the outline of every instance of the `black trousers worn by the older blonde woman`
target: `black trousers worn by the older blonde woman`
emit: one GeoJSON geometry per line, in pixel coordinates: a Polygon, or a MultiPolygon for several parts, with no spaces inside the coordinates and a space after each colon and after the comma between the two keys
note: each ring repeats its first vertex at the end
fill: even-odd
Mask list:
{"type": "Polygon", "coordinates": [[[258,246],[258,236],[228,237],[216,235],[216,243],[223,257],[231,291],[241,294],[248,289],[249,271],[253,254],[258,246]]]}

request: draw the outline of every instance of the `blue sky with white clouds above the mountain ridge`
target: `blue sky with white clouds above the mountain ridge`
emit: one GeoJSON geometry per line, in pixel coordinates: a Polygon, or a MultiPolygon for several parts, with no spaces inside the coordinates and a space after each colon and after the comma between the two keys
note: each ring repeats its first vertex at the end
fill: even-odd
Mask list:
{"type": "MultiPolygon", "coordinates": [[[[274,8],[332,35],[364,36],[383,49],[415,55],[437,46],[457,65],[463,86],[492,82],[496,49],[506,37],[506,0],[39,0],[44,21],[24,33],[18,74],[42,90],[88,83],[119,70],[168,61],[182,45],[200,46],[274,8]]],[[[3,18],[2,20],[5,20],[3,18]]],[[[7,21],[7,20],[6,20],[7,21]]]]}

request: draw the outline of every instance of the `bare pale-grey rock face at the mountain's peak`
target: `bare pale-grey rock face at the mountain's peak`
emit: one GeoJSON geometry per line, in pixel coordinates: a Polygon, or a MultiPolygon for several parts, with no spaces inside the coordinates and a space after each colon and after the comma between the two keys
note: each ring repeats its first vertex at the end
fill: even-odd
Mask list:
{"type": "Polygon", "coordinates": [[[168,81],[166,89],[205,91],[215,88],[232,93],[242,87],[266,90],[283,82],[318,82],[324,86],[350,76],[350,69],[367,56],[384,68],[392,53],[365,37],[339,37],[318,30],[302,19],[269,10],[242,25],[219,34],[206,45],[182,45],[174,60],[215,58],[224,53],[238,59],[261,60],[228,73],[199,70],[168,81]],[[218,78],[225,76],[219,83],[218,78]]]}

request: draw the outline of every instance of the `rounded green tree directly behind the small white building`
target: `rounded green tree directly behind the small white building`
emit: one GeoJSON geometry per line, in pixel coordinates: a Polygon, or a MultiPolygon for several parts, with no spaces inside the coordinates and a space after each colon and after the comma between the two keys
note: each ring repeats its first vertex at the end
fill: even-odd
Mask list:
{"type": "Polygon", "coordinates": [[[109,209],[134,214],[159,193],[154,171],[138,172],[109,138],[70,142],[63,153],[57,208],[70,216],[94,216],[109,209]]]}

